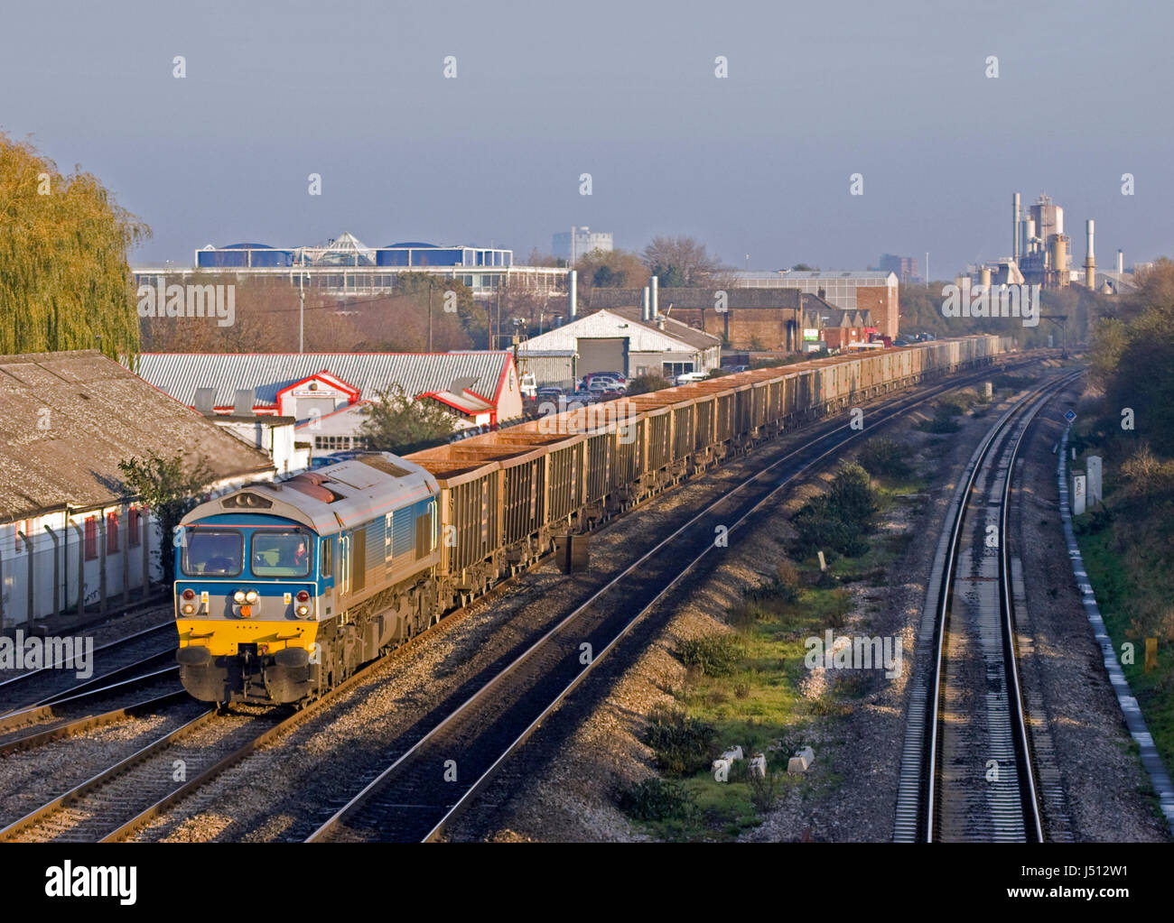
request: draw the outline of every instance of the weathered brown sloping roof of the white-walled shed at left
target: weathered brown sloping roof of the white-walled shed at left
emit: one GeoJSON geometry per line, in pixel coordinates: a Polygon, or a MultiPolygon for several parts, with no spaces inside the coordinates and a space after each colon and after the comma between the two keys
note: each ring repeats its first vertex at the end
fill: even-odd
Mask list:
{"type": "Polygon", "coordinates": [[[123,496],[119,462],[184,449],[216,480],[272,470],[221,430],[95,349],[0,355],[0,522],[123,496]]]}

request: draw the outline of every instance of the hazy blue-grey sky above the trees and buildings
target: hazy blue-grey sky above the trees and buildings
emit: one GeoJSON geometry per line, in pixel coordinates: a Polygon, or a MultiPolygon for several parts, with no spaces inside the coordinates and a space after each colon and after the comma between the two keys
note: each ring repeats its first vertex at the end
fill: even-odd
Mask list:
{"type": "Polygon", "coordinates": [[[1010,254],[1018,190],[1064,206],[1075,264],[1095,218],[1108,266],[1174,252],[1172,32],[1169,5],[1089,0],[49,1],[0,15],[0,130],[141,216],[136,265],[343,231],[522,262],[589,225],[949,278],[1010,254]]]}

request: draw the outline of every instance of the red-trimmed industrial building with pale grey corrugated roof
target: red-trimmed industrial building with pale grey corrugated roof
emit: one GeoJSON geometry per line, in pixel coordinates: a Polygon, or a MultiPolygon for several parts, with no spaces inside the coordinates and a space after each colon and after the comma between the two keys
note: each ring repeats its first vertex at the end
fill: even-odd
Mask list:
{"type": "Polygon", "coordinates": [[[453,415],[453,427],[521,416],[513,354],[452,353],[143,353],[135,371],[203,413],[288,416],[316,454],[359,448],[367,407],[403,388],[453,415]]]}

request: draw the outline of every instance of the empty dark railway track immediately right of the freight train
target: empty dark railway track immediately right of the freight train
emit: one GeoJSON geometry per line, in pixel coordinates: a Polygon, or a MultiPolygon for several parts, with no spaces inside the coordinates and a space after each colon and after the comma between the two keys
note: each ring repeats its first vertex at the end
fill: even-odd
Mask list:
{"type": "MultiPolygon", "coordinates": [[[[980,376],[978,376],[980,378],[980,376]]],[[[635,624],[778,491],[853,439],[932,400],[930,393],[871,410],[862,430],[838,427],[755,473],[620,571],[372,778],[308,837],[427,841],[445,828],[635,624]]]]}

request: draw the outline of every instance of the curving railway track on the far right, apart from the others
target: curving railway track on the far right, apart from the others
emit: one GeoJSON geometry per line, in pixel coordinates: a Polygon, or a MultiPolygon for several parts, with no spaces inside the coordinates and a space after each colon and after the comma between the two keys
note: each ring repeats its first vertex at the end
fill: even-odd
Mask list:
{"type": "Polygon", "coordinates": [[[898,842],[1040,842],[1041,790],[1020,686],[1008,521],[1024,436],[1080,373],[1034,388],[971,456],[935,561],[898,782],[898,842]],[[925,665],[925,666],[920,666],[925,665]]]}

